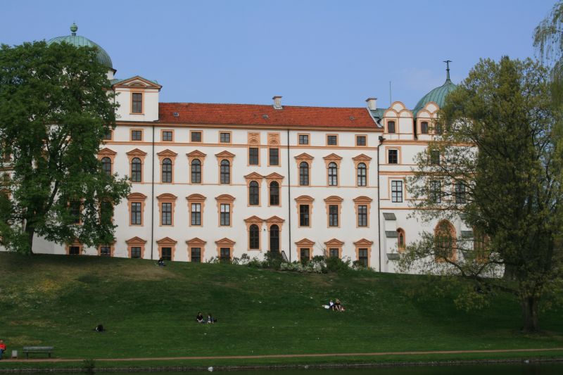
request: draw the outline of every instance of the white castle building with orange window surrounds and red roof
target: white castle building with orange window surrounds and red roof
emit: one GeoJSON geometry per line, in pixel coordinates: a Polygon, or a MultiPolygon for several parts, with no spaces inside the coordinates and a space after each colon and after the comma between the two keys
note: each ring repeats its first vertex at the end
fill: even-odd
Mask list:
{"type": "MultiPolygon", "coordinates": [[[[162,103],[163,87],[140,75],[116,78],[110,56],[76,34],[48,43],[96,46],[117,94],[117,126],[100,146],[108,173],[127,175],[115,207],[115,242],[86,248],[34,240],[35,253],[205,262],[281,251],[358,260],[396,272],[405,243],[433,231],[411,217],[405,179],[433,137],[441,87],[408,109],[162,103]]],[[[453,236],[469,231],[450,223],[453,236]]]]}

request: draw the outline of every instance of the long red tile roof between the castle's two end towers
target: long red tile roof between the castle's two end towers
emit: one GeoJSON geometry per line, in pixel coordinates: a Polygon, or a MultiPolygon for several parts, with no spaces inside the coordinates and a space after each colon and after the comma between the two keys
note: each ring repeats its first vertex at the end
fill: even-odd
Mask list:
{"type": "Polygon", "coordinates": [[[159,103],[158,117],[159,122],[182,124],[378,128],[367,108],[159,103]]]}

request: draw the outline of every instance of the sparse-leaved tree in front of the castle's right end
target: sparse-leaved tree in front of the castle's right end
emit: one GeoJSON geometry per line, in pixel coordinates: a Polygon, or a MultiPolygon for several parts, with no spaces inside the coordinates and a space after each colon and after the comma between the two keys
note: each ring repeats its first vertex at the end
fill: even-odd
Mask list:
{"type": "Polygon", "coordinates": [[[408,181],[419,215],[439,224],[400,260],[472,279],[464,307],[512,293],[526,331],[538,330],[540,300],[562,291],[563,133],[550,87],[539,63],[504,57],[481,60],[448,95],[434,125],[443,132],[408,181]],[[454,233],[459,217],[471,236],[454,233]]]}

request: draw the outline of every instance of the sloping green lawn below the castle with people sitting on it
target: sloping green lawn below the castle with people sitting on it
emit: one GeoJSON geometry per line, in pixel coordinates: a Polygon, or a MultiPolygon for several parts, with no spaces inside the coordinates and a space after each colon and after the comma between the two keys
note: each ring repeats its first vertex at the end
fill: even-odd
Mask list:
{"type": "Polygon", "coordinates": [[[53,345],[63,358],[563,347],[561,311],[523,335],[512,300],[468,313],[447,297],[410,297],[416,276],[155,263],[0,253],[0,338],[8,352],[53,345]],[[347,311],[322,308],[329,298],[347,311]],[[196,324],[198,311],[218,323],[196,324]]]}

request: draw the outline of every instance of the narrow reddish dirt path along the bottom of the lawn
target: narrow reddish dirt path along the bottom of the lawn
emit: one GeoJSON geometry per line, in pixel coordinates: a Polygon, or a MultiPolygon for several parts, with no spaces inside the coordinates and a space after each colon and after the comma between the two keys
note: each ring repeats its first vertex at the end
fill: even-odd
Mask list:
{"type": "MultiPolygon", "coordinates": [[[[272,354],[272,355],[217,355],[206,357],[152,357],[152,358],[96,358],[99,362],[135,362],[135,361],[175,361],[175,360],[250,360],[259,358],[306,358],[306,357],[375,357],[382,355],[431,355],[431,354],[471,354],[471,353],[510,353],[510,352],[553,352],[563,348],[545,349],[493,349],[493,350],[437,350],[421,352],[369,352],[369,353],[318,353],[318,354],[272,354]]],[[[81,362],[80,358],[44,358],[44,359],[5,359],[0,363],[17,362],[81,362]]]]}

